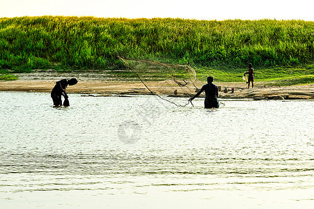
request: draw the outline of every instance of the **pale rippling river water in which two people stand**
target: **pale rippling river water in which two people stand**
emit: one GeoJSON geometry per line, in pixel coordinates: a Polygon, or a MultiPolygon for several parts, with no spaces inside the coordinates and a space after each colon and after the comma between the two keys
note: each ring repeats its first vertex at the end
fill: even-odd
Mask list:
{"type": "Polygon", "coordinates": [[[69,96],[0,92],[1,208],[314,205],[314,101],[69,96]]]}

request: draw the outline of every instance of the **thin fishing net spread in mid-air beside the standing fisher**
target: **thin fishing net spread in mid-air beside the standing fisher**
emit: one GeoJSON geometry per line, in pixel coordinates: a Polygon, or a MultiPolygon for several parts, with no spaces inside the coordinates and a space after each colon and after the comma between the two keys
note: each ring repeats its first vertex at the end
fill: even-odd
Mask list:
{"type": "Polygon", "coordinates": [[[127,59],[122,56],[118,56],[118,58],[123,61],[128,70],[136,75],[151,94],[176,106],[185,107],[189,102],[177,104],[171,98],[164,98],[161,95],[191,97],[199,90],[198,86],[201,86],[195,70],[190,65],[127,59]]]}

